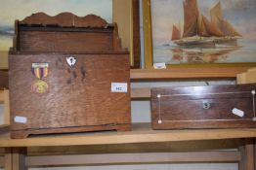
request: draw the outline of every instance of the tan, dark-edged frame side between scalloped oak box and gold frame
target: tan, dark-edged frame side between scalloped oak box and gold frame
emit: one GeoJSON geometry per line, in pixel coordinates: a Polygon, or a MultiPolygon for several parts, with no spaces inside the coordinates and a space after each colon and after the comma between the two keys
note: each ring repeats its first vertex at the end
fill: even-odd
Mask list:
{"type": "Polygon", "coordinates": [[[113,21],[117,22],[122,48],[130,51],[131,68],[140,68],[140,1],[112,0],[113,21]]]}

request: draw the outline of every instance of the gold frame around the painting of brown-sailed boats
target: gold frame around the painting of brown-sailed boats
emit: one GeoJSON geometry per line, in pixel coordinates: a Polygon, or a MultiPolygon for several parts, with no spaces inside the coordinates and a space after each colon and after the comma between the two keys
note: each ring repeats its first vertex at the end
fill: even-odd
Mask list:
{"type": "MultiPolygon", "coordinates": [[[[183,0],[180,0],[181,3],[183,0]]],[[[177,1],[178,2],[178,1],[177,1]]],[[[151,22],[151,0],[143,0],[143,18],[144,18],[144,43],[145,43],[145,67],[150,69],[153,67],[153,32],[152,32],[152,22],[151,22]]],[[[256,44],[255,44],[256,47],[256,44]]],[[[240,68],[251,68],[256,66],[256,53],[255,53],[255,62],[234,62],[234,63],[183,63],[183,64],[166,64],[167,68],[180,69],[183,72],[187,68],[203,68],[204,71],[211,72],[211,69],[216,70],[218,68],[229,69],[237,68],[235,71],[238,72],[240,68]]]]}

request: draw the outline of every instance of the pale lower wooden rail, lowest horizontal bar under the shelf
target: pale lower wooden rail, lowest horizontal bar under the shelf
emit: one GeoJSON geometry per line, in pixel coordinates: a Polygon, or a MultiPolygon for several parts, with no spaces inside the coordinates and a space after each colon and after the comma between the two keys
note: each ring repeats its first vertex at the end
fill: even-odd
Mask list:
{"type": "Polygon", "coordinates": [[[102,153],[27,156],[29,167],[70,165],[113,165],[147,163],[238,162],[239,152],[196,153],[102,153]]]}

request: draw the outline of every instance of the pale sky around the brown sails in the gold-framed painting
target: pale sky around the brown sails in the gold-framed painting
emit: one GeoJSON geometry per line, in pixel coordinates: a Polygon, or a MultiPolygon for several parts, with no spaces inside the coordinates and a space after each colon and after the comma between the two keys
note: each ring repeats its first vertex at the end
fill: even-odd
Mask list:
{"type": "MultiPolygon", "coordinates": [[[[184,0],[151,0],[153,41],[171,40],[172,26],[183,28],[184,0]]],[[[223,16],[245,39],[256,39],[256,0],[197,0],[200,14],[208,19],[209,10],[221,2],[223,16]]]]}

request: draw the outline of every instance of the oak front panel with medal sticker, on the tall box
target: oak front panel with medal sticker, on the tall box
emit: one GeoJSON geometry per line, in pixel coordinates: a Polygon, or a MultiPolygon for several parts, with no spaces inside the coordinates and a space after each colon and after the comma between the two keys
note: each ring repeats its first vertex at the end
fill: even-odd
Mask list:
{"type": "Polygon", "coordinates": [[[42,129],[46,133],[47,128],[130,123],[128,53],[20,52],[10,54],[9,59],[13,131],[42,129]],[[77,59],[74,67],[65,61],[70,55],[77,59]],[[38,94],[31,90],[31,85],[38,80],[31,72],[31,63],[46,62],[49,75],[42,81],[49,88],[46,93],[38,94]],[[111,83],[126,83],[128,91],[111,92],[111,83]],[[15,122],[16,117],[24,117],[27,122],[15,122]]]}

